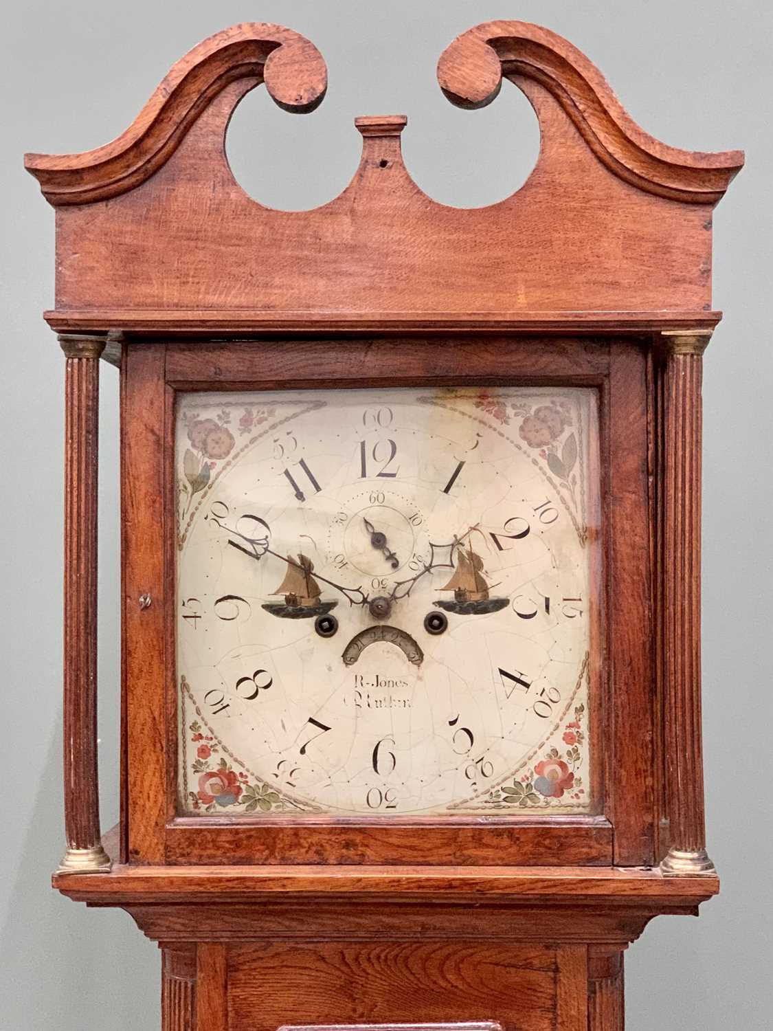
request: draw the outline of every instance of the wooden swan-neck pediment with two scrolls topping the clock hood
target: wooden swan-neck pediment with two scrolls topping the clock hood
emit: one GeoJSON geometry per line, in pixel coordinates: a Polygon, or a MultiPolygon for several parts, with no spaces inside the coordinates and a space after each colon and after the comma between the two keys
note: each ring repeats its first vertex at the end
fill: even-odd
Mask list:
{"type": "Polygon", "coordinates": [[[503,76],[527,95],[542,145],[522,189],[483,208],[438,204],[403,163],[405,120],[370,118],[358,120],[362,160],[340,196],[277,211],[234,179],[228,122],[264,81],[282,107],[311,110],[324,62],[277,26],[238,25],[201,43],[114,142],[28,156],[59,208],[49,323],[176,334],[716,323],[711,209],[739,152],[654,140],[586,58],[526,23],[470,30],[438,74],[465,106],[490,102],[503,76]]]}

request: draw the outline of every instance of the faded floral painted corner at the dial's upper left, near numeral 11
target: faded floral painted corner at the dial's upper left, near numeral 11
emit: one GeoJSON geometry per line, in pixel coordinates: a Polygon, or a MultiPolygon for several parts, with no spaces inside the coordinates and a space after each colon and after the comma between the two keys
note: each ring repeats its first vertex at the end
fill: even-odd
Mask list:
{"type": "MultiPolygon", "coordinates": [[[[244,407],[238,423],[233,424],[234,412],[224,407],[213,418],[203,419],[195,408],[180,413],[188,434],[189,446],[182,454],[182,475],[178,479],[180,519],[184,520],[197,494],[201,494],[222,468],[236,445],[234,432],[245,436],[265,423],[273,408],[244,407]],[[233,432],[232,432],[233,431],[233,432]]],[[[180,448],[181,450],[181,448],[180,448]]]]}

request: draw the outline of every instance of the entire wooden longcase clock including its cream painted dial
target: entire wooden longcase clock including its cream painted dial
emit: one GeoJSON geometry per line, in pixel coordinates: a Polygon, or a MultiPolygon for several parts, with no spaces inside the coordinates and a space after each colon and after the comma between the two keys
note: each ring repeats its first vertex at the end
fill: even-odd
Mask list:
{"type": "Polygon", "coordinates": [[[54,877],[163,951],[166,1031],[616,1031],[623,954],[718,882],[700,722],[711,213],[743,156],[666,146],[519,22],[525,186],[428,198],[361,118],[335,200],[224,152],[314,46],[237,25],[112,143],[29,155],[66,356],[65,818],[54,877]],[[95,713],[99,360],[122,386],[121,819],[95,713]]]}

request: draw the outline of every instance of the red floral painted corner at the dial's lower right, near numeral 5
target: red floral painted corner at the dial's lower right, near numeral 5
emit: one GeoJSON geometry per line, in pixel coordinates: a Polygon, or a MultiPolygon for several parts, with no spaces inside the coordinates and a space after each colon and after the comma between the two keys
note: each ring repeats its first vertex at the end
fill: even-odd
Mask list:
{"type": "Polygon", "coordinates": [[[577,769],[582,760],[581,747],[585,742],[582,723],[585,706],[575,706],[574,719],[566,724],[562,734],[566,752],[550,749],[544,756],[513,777],[512,784],[501,785],[489,793],[485,804],[492,808],[517,805],[522,809],[549,806],[563,799],[561,805],[582,805],[587,801],[582,777],[577,769]]]}

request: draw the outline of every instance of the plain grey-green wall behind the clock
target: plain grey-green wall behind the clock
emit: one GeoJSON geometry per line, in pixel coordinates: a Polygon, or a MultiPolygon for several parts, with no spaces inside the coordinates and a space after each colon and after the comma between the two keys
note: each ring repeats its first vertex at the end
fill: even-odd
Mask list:
{"type": "MultiPolygon", "coordinates": [[[[53,301],[54,213],[24,151],[82,151],[121,133],[170,65],[240,21],[310,37],[330,69],[322,107],[279,111],[265,91],[232,124],[229,155],[264,203],[312,207],[357,166],[357,114],[405,112],[406,162],[437,200],[476,206],[512,192],[537,154],[536,121],[506,85],[462,112],[435,62],[491,18],[538,22],[598,64],[633,117],[668,143],[745,147],[747,167],[714,219],[714,301],[728,314],[705,377],[704,698],[711,854],[722,895],[700,921],[663,917],[628,955],[630,1031],[763,1031],[771,977],[771,415],[773,260],[770,96],[773,8],[736,0],[612,4],[537,0],[28,0],[4,12],[0,338],[0,1026],[14,1031],[159,1027],[159,956],[114,911],[48,888],[61,819],[63,362],[40,312],[53,301]]],[[[103,825],[116,814],[117,392],[102,389],[100,757],[103,825]]],[[[161,786],[160,786],[161,790],[161,786]]],[[[476,1015],[484,1016],[484,1015],[476,1015]]]]}

